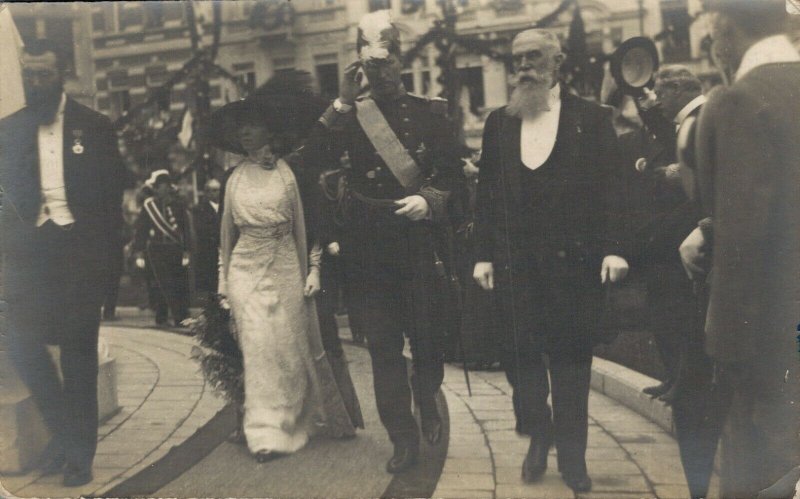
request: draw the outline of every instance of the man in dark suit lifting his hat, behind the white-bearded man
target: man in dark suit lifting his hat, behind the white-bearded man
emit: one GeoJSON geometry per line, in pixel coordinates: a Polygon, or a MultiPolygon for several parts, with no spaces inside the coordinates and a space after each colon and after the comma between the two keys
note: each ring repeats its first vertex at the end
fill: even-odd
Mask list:
{"type": "Polygon", "coordinates": [[[680,256],[675,249],[695,227],[695,203],[683,191],[676,158],[677,131],[696,116],[705,97],[700,80],[683,66],[664,66],[655,75],[655,88],[640,104],[642,120],[650,133],[648,155],[634,168],[643,190],[647,213],[632,228],[637,264],[645,275],[648,327],[653,332],[665,379],[644,392],[672,402],[681,351],[695,327],[695,299],[680,256]]]}

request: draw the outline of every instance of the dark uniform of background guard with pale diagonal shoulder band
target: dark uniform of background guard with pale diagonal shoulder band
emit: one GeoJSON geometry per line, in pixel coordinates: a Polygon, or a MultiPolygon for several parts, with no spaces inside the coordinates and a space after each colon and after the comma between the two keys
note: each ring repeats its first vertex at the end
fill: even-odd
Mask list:
{"type": "Polygon", "coordinates": [[[150,296],[156,309],[156,323],[164,324],[171,312],[175,324],[178,325],[189,315],[189,280],[181,262],[189,247],[189,222],[182,203],[156,199],[156,205],[164,217],[177,227],[177,241],[159,230],[147,210],[142,208],[136,219],[133,251],[143,252],[145,256],[150,273],[150,296]]]}

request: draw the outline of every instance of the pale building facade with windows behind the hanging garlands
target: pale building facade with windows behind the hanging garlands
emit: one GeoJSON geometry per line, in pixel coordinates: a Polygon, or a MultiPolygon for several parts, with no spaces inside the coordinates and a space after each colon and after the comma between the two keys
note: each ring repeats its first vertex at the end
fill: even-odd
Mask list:
{"type": "MultiPolygon", "coordinates": [[[[508,50],[519,30],[553,12],[560,0],[449,0],[458,9],[461,35],[496,40],[508,50]]],[[[355,60],[357,23],[371,10],[389,8],[406,49],[441,18],[441,0],[260,0],[222,2],[222,30],[216,62],[235,75],[239,88],[252,89],[275,72],[295,68],[316,77],[321,93],[338,93],[344,68],[355,60]]],[[[690,0],[579,0],[589,54],[610,53],[631,36],[654,36],[668,27],[672,36],[660,42],[662,59],[703,66],[699,41],[692,39],[690,0]],[[677,40],[677,42],[676,42],[677,40]]],[[[211,2],[196,1],[201,43],[212,40],[211,2]]],[[[143,102],[192,57],[186,2],[95,2],[15,4],[12,13],[23,39],[48,36],[71,50],[68,92],[112,119],[143,102]]],[[[566,39],[571,10],[550,29],[566,39]]],[[[697,23],[695,23],[697,24],[697,23]]],[[[439,68],[431,45],[406,68],[410,91],[438,95],[439,68]]],[[[479,132],[488,110],[505,104],[508,71],[503,63],[459,50],[461,104],[468,136],[479,132]],[[471,112],[470,112],[471,109],[471,112]]],[[[700,68],[708,70],[707,67],[700,68]]],[[[176,85],[170,109],[179,112],[191,101],[186,83],[176,85]]],[[[239,97],[224,78],[211,82],[212,106],[239,97]]]]}

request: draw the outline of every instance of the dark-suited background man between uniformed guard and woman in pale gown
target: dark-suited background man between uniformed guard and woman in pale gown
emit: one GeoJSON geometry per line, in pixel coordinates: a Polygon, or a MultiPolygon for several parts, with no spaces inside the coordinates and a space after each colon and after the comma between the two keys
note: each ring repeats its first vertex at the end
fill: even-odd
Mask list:
{"type": "Polygon", "coordinates": [[[194,224],[194,284],[201,300],[217,292],[219,279],[220,182],[210,179],[192,209],[194,224]]]}

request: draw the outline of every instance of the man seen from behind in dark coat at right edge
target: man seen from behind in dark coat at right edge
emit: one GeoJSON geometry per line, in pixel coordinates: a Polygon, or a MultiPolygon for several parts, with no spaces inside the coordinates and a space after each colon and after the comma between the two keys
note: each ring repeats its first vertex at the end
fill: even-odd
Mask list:
{"type": "Polygon", "coordinates": [[[733,83],[698,120],[698,191],[713,223],[681,253],[697,272],[713,250],[705,346],[727,413],[721,495],[753,497],[800,463],[800,55],[784,2],[707,7],[733,83]]]}

